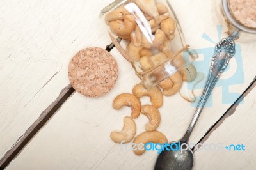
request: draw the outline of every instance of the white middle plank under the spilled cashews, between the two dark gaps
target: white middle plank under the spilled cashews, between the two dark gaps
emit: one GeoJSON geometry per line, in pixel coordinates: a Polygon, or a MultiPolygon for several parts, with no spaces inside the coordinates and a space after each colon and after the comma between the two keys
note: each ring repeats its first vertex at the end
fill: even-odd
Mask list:
{"type": "MultiPolygon", "coordinates": [[[[188,42],[195,48],[212,47],[211,43],[200,38],[204,32],[211,37],[218,37],[216,27],[211,20],[211,3],[202,0],[189,1],[187,7],[176,0],[172,3],[188,42]],[[195,23],[195,18],[200,20],[196,20],[195,23]]],[[[253,59],[253,47],[255,43],[241,43],[245,82],[231,86],[230,91],[243,93],[255,77],[256,61],[253,59]]],[[[121,111],[113,110],[111,108],[113,98],[120,93],[131,93],[132,86],[140,82],[134,75],[131,65],[116,50],[113,50],[112,54],[116,56],[120,68],[115,88],[102,98],[86,98],[75,93],[13,160],[9,169],[152,168],[157,157],[156,152],[148,152],[136,157],[132,151],[120,150],[120,145],[109,139],[109,133],[122,128],[124,116],[128,116],[131,112],[128,108],[121,111]]],[[[210,54],[209,58],[211,58],[210,54]]],[[[236,70],[235,63],[234,59],[230,62],[230,70],[236,70]]],[[[196,93],[200,93],[200,90],[196,93]]],[[[213,107],[205,108],[195,132],[191,135],[192,143],[197,143],[230,107],[230,104],[221,104],[221,88],[214,89],[213,97],[213,107]]],[[[233,100],[235,101],[236,98],[233,100]]],[[[143,104],[148,102],[148,98],[143,98],[143,104]]],[[[159,131],[166,134],[169,141],[175,141],[184,134],[195,108],[179,95],[175,95],[165,97],[164,105],[159,110],[162,118],[159,131]]],[[[136,120],[138,134],[143,132],[145,123],[147,118],[144,116],[136,120]]]]}

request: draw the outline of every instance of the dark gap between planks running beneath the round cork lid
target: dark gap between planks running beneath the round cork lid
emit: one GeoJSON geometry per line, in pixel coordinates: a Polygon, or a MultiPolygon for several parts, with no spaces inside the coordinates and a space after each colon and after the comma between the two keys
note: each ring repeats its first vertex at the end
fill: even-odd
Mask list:
{"type": "MultiPolygon", "coordinates": [[[[110,52],[115,45],[110,43],[106,46],[106,50],[110,52]]],[[[58,73],[58,72],[57,72],[58,73]]],[[[56,75],[56,73],[54,74],[56,75]]],[[[54,75],[52,77],[54,77],[54,75]]],[[[51,78],[52,79],[52,78],[51,78]]],[[[50,80],[51,80],[50,79],[50,80]]],[[[50,81],[49,80],[49,81],[50,81]]],[[[26,145],[33,139],[33,137],[39,132],[39,130],[44,127],[44,125],[49,121],[52,116],[61,108],[61,106],[74,94],[75,90],[72,88],[71,84],[68,84],[64,89],[61,90],[60,95],[51,105],[49,105],[37,118],[37,120],[26,130],[26,132],[17,139],[16,143],[12,145],[10,150],[8,150],[3,158],[0,160],[0,169],[5,167],[12,162],[13,158],[19,155],[26,145]]]]}

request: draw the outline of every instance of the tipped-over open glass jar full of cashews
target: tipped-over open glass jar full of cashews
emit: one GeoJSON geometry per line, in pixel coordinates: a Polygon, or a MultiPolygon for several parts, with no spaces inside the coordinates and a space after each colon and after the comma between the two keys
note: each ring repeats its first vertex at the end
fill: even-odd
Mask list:
{"type": "Polygon", "coordinates": [[[169,1],[116,0],[100,16],[145,88],[181,71],[197,57],[189,50],[169,1]]]}

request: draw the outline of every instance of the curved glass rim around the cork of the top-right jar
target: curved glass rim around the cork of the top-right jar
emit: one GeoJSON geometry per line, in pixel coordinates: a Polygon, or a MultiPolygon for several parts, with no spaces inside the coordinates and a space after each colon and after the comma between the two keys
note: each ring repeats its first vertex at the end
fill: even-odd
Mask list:
{"type": "Polygon", "coordinates": [[[223,13],[224,13],[225,17],[227,17],[230,24],[237,27],[241,31],[256,34],[256,29],[254,29],[252,27],[244,26],[243,24],[241,24],[241,22],[239,22],[235,19],[234,15],[230,12],[230,6],[228,3],[228,0],[222,0],[222,6],[223,6],[223,13]]]}

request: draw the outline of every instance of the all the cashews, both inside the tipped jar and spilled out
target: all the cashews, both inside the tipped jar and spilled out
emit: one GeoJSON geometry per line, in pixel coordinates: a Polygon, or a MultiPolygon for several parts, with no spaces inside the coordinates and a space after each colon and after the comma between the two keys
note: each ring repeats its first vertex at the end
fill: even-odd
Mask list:
{"type": "MultiPolygon", "coordinates": [[[[136,23],[136,13],[131,13],[120,6],[115,10],[106,14],[105,21],[109,26],[113,35],[116,35],[127,44],[123,49],[119,43],[115,43],[116,48],[120,53],[131,63],[140,63],[140,68],[143,72],[158,66],[166,61],[173,59],[173,65],[177,68],[184,66],[182,54],[173,55],[171,41],[175,37],[176,23],[170,17],[168,8],[155,0],[131,0],[141,12],[148,25],[151,27],[154,39],[152,42],[142,33],[141,27],[136,23]]],[[[148,89],[143,87],[143,84],[134,86],[132,93],[124,93],[118,95],[113,101],[114,109],[121,109],[124,105],[131,107],[131,117],[124,118],[124,127],[121,132],[112,132],[110,137],[115,143],[129,143],[136,135],[136,123],[134,119],[140,116],[140,113],[147,116],[149,123],[145,125],[145,132],[135,137],[133,143],[165,143],[167,138],[164,134],[157,131],[161,116],[158,108],[163,105],[163,95],[171,96],[180,91],[183,81],[191,82],[196,78],[196,69],[193,65],[185,66],[179,72],[167,77],[159,82],[156,86],[148,89]],[[163,90],[161,90],[163,89],[163,90]],[[140,98],[143,96],[150,97],[152,105],[141,106],[140,98]]],[[[134,150],[136,155],[142,155],[145,150],[134,150]]]]}

